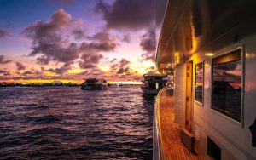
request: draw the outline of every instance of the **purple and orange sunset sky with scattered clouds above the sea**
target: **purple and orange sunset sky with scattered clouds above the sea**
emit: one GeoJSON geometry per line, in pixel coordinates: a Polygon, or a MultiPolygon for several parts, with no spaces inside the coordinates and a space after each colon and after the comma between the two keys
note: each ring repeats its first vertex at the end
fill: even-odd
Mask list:
{"type": "Polygon", "coordinates": [[[0,82],[140,82],[154,71],[157,2],[0,0],[0,82]]]}

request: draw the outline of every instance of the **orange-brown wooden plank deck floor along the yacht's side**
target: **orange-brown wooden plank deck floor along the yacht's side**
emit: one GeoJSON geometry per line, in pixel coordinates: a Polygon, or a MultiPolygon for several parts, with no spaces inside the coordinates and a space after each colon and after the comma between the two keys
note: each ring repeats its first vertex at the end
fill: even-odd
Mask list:
{"type": "Polygon", "coordinates": [[[159,105],[160,134],[166,159],[202,159],[201,157],[192,154],[181,142],[179,125],[174,123],[175,108],[173,95],[167,95],[165,92],[161,93],[159,105]]]}

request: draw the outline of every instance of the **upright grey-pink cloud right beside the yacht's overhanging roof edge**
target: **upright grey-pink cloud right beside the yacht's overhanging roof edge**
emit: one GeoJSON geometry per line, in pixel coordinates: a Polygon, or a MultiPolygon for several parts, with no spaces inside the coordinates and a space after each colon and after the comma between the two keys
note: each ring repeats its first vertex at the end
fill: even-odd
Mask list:
{"type": "Polygon", "coordinates": [[[141,37],[141,48],[145,51],[145,54],[142,55],[143,60],[152,60],[154,61],[154,52],[156,48],[156,39],[155,31],[150,30],[147,33],[143,34],[141,37]]]}

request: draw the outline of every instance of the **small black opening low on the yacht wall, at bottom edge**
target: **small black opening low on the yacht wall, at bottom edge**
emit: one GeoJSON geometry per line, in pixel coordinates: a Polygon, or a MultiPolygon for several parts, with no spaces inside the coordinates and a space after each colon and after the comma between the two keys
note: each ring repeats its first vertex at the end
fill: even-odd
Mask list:
{"type": "Polygon", "coordinates": [[[209,137],[207,137],[207,155],[216,160],[221,159],[221,149],[209,137]]]}

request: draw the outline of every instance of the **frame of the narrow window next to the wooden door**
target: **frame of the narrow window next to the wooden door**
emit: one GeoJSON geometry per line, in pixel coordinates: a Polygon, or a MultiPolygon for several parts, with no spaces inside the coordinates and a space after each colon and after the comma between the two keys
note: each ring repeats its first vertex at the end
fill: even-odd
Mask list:
{"type": "Polygon", "coordinates": [[[205,60],[202,60],[202,61],[200,61],[199,63],[196,63],[195,64],[195,82],[194,82],[194,101],[197,103],[197,104],[199,104],[199,105],[201,105],[201,106],[204,106],[204,99],[205,99],[205,96],[204,96],[204,93],[205,93],[205,91],[204,91],[204,88],[205,88],[205,60]],[[198,101],[198,100],[195,100],[195,84],[196,84],[196,66],[197,65],[199,65],[199,64],[202,64],[202,74],[203,74],[203,77],[202,77],[202,100],[201,101],[198,101]]]}

